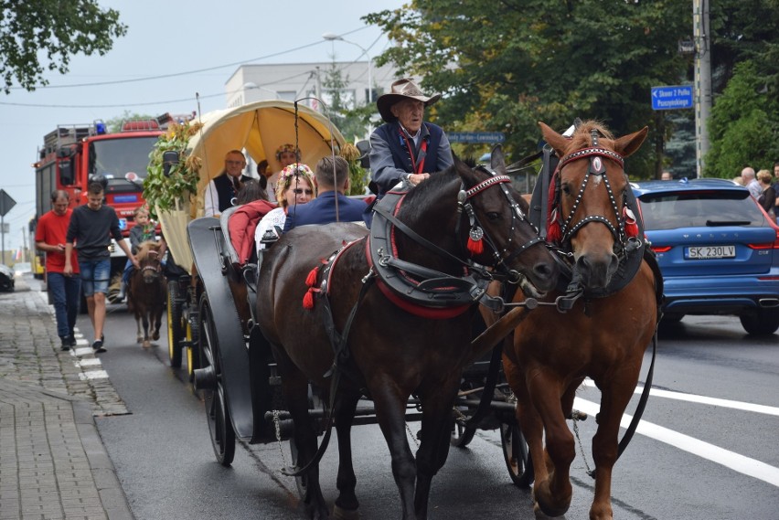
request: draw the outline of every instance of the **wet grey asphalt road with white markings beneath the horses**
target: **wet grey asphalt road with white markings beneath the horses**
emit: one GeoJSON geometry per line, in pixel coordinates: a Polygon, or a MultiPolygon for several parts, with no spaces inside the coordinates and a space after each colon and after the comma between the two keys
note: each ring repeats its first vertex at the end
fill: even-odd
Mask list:
{"type": "MultiPolygon", "coordinates": [[[[98,418],[97,424],[133,514],[139,520],[303,518],[293,479],[279,472],[290,461],[288,446],[282,452],[276,443],[240,444],[232,467],[220,466],[186,370],[167,366],[165,331],[158,347],[143,349],[134,343],[129,314],[117,305],[110,310],[108,352],[101,360],[131,413],[98,418]]],[[[89,335],[88,320],[79,326],[89,335]]],[[[640,386],[648,362],[647,354],[640,386]]],[[[688,317],[664,327],[653,396],[614,469],[614,517],[779,519],[778,384],[779,335],[752,340],[731,317],[688,317]]],[[[598,399],[591,383],[576,406],[589,411],[598,399]]],[[[591,418],[578,426],[586,454],[577,449],[571,467],[570,519],[588,517],[593,492],[586,471],[596,425],[591,418]]],[[[410,429],[416,432],[418,424],[410,429]]],[[[355,427],[353,437],[362,518],[399,518],[379,428],[355,427]]],[[[331,504],[336,451],[333,440],[321,470],[331,504]]],[[[468,449],[450,451],[433,481],[431,512],[437,519],[537,518],[529,491],[510,483],[496,431],[480,431],[468,449]]]]}

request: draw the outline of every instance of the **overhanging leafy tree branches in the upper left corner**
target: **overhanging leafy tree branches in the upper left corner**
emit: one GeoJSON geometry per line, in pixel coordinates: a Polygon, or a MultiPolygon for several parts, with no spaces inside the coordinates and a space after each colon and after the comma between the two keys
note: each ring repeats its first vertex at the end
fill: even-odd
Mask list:
{"type": "Polygon", "coordinates": [[[0,0],[0,74],[5,93],[16,81],[26,90],[47,85],[45,70],[68,72],[70,58],[111,50],[127,27],[97,0],[0,0]]]}

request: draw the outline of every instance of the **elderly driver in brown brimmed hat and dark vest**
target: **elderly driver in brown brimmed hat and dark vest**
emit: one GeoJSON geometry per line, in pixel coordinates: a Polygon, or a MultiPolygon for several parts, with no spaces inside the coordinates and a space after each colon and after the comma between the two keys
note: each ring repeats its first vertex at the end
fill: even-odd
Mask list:
{"type": "Polygon", "coordinates": [[[389,93],[376,105],[386,122],[370,136],[370,173],[383,196],[392,186],[405,181],[420,184],[433,172],[452,164],[452,147],[440,126],[423,122],[424,108],[441,98],[425,96],[410,79],[392,83],[389,93]]]}

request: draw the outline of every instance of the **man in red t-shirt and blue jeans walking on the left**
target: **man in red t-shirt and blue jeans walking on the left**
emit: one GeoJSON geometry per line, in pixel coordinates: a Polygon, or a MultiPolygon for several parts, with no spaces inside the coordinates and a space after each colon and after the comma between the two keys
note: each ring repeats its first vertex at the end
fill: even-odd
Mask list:
{"type": "MultiPolygon", "coordinates": [[[[38,218],[35,231],[36,248],[46,252],[46,282],[51,299],[54,302],[54,315],[57,317],[57,334],[62,350],[76,345],[73,327],[79,315],[81,278],[65,275],[65,241],[68,234],[70,198],[67,191],[56,190],[51,194],[51,211],[38,218]]],[[[70,264],[74,275],[79,274],[79,262],[76,250],[73,250],[70,264]]]]}

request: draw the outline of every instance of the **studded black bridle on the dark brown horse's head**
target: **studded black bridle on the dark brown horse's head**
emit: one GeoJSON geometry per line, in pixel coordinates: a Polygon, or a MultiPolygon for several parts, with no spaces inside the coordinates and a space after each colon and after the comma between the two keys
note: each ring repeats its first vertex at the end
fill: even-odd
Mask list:
{"type": "MultiPolygon", "coordinates": [[[[483,164],[480,164],[476,167],[477,170],[480,170],[488,175],[490,177],[486,179],[485,181],[480,182],[476,186],[470,188],[470,189],[464,189],[464,186],[461,188],[460,192],[457,194],[457,212],[461,213],[463,210],[465,211],[465,214],[468,216],[468,222],[470,225],[470,237],[472,239],[484,239],[486,244],[492,249],[492,256],[495,259],[496,263],[493,267],[496,269],[500,269],[501,271],[504,271],[507,275],[508,281],[518,281],[521,278],[521,275],[518,273],[518,271],[509,270],[506,267],[506,264],[510,260],[514,260],[516,257],[518,257],[520,254],[522,254],[525,250],[529,249],[530,247],[542,243],[544,240],[539,237],[539,230],[528,220],[527,215],[525,215],[525,212],[522,211],[522,208],[519,207],[519,204],[517,200],[511,196],[511,193],[508,191],[508,188],[506,186],[507,183],[511,183],[511,177],[508,175],[498,175],[496,171],[486,167],[483,164]],[[472,197],[480,194],[481,192],[485,191],[487,188],[492,186],[499,186],[501,191],[503,192],[503,195],[506,196],[506,199],[508,201],[509,206],[511,207],[511,223],[509,224],[508,234],[507,234],[507,243],[506,247],[503,249],[498,249],[495,241],[484,232],[484,227],[479,222],[478,217],[476,217],[474,207],[471,205],[470,202],[468,202],[472,197]],[[525,244],[523,244],[520,248],[514,249],[513,251],[509,251],[509,246],[513,240],[513,233],[514,229],[517,226],[517,222],[526,221],[530,225],[530,228],[532,228],[535,233],[536,237],[533,239],[529,239],[525,244]]],[[[455,233],[459,234],[459,225],[460,221],[457,221],[457,227],[458,229],[455,229],[455,233]]]]}

